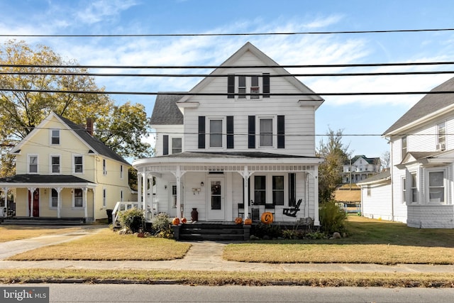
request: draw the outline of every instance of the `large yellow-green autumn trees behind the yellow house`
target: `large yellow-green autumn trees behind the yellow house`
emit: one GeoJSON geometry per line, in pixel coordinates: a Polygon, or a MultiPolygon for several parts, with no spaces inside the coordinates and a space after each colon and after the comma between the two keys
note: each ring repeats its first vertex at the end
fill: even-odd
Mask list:
{"type": "Polygon", "coordinates": [[[117,106],[102,93],[104,87],[96,86],[86,69],[70,67],[77,66],[75,60],[63,60],[45,45],[32,47],[9,40],[0,45],[0,64],[1,72],[9,72],[0,77],[1,176],[14,174],[13,158],[7,156],[11,146],[27,136],[50,111],[79,124],[94,119],[95,135],[125,158],[151,154],[150,145],[141,140],[150,131],[144,106],[129,102],[117,106]],[[50,92],[56,90],[67,92],[50,92]],[[89,93],[72,93],[77,91],[89,93]]]}

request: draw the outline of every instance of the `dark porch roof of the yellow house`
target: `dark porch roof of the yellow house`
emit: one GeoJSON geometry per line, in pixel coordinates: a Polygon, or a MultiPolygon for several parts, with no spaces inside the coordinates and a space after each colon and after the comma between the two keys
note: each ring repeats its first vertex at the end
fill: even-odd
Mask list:
{"type": "Polygon", "coordinates": [[[96,184],[73,175],[14,175],[0,178],[0,187],[89,187],[96,184]]]}

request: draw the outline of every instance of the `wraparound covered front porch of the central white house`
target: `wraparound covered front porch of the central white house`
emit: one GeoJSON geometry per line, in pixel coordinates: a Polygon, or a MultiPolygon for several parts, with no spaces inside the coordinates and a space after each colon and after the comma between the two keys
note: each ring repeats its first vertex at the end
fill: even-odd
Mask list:
{"type": "Polygon", "coordinates": [[[273,221],[311,218],[319,226],[320,162],[270,153],[186,152],[135,160],[133,166],[138,203],[150,221],[162,212],[190,220],[194,210],[196,221],[232,222],[238,216],[260,221],[270,212],[273,221]]]}

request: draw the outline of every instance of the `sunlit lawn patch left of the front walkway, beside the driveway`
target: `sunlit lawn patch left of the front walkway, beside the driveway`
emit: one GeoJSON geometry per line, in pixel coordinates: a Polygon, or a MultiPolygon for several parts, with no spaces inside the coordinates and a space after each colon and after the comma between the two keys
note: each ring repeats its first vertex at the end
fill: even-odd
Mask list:
{"type": "Polygon", "coordinates": [[[109,228],[78,240],[13,255],[8,260],[173,260],[183,258],[191,245],[165,238],[138,238],[109,228]]]}

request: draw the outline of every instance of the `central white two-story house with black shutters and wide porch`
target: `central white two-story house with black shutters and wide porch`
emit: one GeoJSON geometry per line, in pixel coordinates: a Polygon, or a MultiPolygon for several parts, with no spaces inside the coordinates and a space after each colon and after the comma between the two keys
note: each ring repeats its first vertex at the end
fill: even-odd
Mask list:
{"type": "Polygon", "coordinates": [[[156,156],[133,161],[139,202],[187,219],[196,209],[199,221],[270,211],[275,221],[310,217],[319,225],[314,135],[322,102],[246,43],[189,92],[157,96],[156,156]],[[298,211],[284,210],[299,200],[298,211]]]}

